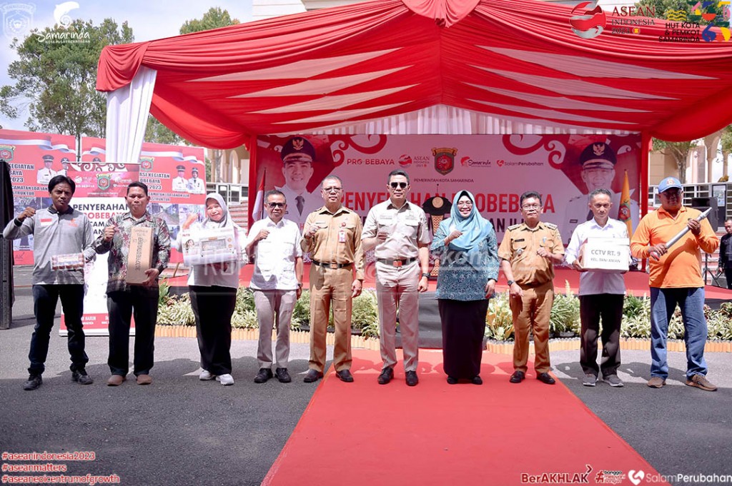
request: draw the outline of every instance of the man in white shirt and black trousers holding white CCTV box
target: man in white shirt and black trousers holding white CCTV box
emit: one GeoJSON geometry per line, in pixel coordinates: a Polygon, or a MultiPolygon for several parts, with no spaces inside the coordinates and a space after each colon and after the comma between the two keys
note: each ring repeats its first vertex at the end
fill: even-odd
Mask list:
{"type": "MultiPolygon", "coordinates": [[[[589,210],[593,218],[572,232],[565,260],[580,275],[580,321],[582,322],[580,366],[585,376],[582,384],[594,387],[597,375],[610,387],[622,387],[618,377],[620,366],[620,323],[623,319],[625,281],[622,273],[591,271],[583,267],[583,249],[588,238],[623,238],[627,251],[628,230],[625,223],[610,218],[613,208],[608,189],[595,189],[589,194],[589,210]],[[597,334],[602,318],[602,360],[597,365],[597,334]]],[[[627,270],[627,265],[625,266],[627,270]]]]}

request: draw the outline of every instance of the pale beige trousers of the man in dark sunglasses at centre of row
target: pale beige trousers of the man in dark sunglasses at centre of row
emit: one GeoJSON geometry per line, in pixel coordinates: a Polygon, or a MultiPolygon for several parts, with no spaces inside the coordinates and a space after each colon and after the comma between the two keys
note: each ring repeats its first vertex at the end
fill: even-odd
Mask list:
{"type": "Polygon", "coordinates": [[[397,364],[395,334],[397,309],[399,332],[402,335],[404,371],[417,371],[419,357],[419,275],[421,268],[413,262],[406,268],[376,264],[376,299],[378,300],[379,344],[384,368],[397,364]]]}

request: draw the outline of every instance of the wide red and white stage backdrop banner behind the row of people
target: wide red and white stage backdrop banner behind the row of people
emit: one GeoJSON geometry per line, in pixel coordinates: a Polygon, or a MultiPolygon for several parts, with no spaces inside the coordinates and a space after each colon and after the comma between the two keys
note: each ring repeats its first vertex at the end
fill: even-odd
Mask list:
{"type": "MultiPolygon", "coordinates": [[[[519,198],[529,190],[542,194],[542,220],[559,225],[565,244],[577,224],[591,218],[587,194],[592,189],[613,191],[611,216],[618,218],[626,171],[634,228],[640,213],[640,134],[261,136],[254,163],[250,187],[277,188],[288,194],[285,217],[301,226],[307,213],[323,204],[318,186],[326,175],[343,180],[343,203],[365,219],[373,205],[389,197],[387,175],[395,169],[408,172],[410,200],[420,206],[435,196],[452,202],[457,191],[471,191],[478,210],[493,223],[498,242],[507,227],[523,221],[519,198]],[[312,144],[315,159],[311,167],[283,167],[280,153],[294,137],[312,144]],[[607,164],[588,164],[583,169],[580,155],[589,145],[593,145],[588,149],[594,151],[593,157],[607,159],[607,164]],[[291,200],[295,194],[305,201],[302,212],[291,200]]],[[[262,217],[254,206],[250,205],[250,221],[262,217]]],[[[449,213],[449,205],[441,208],[430,206],[430,211],[433,215],[441,210],[449,213]]]]}

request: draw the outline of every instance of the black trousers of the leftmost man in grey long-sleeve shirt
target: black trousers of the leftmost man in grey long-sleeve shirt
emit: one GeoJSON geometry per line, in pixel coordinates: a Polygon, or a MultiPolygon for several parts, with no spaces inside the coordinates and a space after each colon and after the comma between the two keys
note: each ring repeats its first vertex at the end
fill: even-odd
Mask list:
{"type": "Polygon", "coordinates": [[[83,370],[89,362],[89,357],[84,352],[84,330],[81,324],[81,316],[84,313],[83,284],[34,285],[33,312],[36,315],[36,326],[31,335],[31,350],[28,353],[31,362],[28,372],[31,375],[40,375],[45,371],[48,342],[51,340],[51,329],[59,297],[61,308],[64,309],[64,322],[69,330],[67,341],[71,356],[71,371],[83,370]]]}

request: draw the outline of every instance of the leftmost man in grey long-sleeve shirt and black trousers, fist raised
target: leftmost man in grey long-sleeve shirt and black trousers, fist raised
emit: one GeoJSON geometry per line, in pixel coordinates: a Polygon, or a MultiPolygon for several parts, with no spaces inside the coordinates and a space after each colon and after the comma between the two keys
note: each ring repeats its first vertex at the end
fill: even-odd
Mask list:
{"type": "Polygon", "coordinates": [[[81,384],[91,384],[86,374],[89,357],[84,352],[83,315],[84,271],[83,265],[71,269],[54,270],[51,257],[56,255],[81,254],[80,262],[89,262],[96,257],[91,243],[94,232],[86,214],[72,208],[69,203],[75,191],[75,183],[65,175],[56,175],[48,183],[53,205],[35,210],[26,208],[7,224],[3,237],[7,240],[33,235],[33,305],[36,326],[31,336],[31,350],[28,381],[25,390],[35,390],[42,384],[48,356],[48,342],[56,314],[56,303],[61,298],[65,324],[68,329],[68,346],[71,355],[71,377],[81,384]]]}

